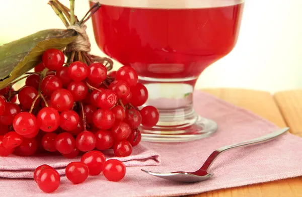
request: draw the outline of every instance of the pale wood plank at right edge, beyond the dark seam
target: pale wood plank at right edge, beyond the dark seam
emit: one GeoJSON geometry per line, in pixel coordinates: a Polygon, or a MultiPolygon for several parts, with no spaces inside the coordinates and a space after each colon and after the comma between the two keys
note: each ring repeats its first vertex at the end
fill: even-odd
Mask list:
{"type": "Polygon", "coordinates": [[[277,92],[274,99],[291,132],[302,137],[302,90],[277,92]]]}

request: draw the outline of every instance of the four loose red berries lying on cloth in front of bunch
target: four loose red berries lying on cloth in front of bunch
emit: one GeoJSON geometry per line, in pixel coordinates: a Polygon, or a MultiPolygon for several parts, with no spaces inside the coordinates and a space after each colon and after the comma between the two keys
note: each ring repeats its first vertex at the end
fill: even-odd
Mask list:
{"type": "MultiPolygon", "coordinates": [[[[102,171],[108,180],[119,181],[126,174],[126,166],[116,159],[106,161],[105,155],[100,151],[90,151],[82,156],[80,162],[71,162],[65,168],[66,177],[73,184],[82,183],[88,175],[99,175],[102,171]]],[[[59,173],[45,164],[36,168],[34,180],[46,193],[55,191],[60,185],[59,173]]]]}

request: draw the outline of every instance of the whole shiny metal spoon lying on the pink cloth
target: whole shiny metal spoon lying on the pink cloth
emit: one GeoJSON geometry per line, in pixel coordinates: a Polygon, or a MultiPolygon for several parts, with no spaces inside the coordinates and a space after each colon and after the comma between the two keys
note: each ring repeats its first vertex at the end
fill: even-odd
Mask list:
{"type": "Polygon", "coordinates": [[[151,172],[151,171],[147,171],[147,170],[143,170],[141,169],[143,172],[146,172],[150,175],[154,175],[160,178],[164,178],[164,179],[168,179],[168,180],[173,180],[173,181],[179,181],[179,182],[199,182],[199,181],[203,181],[206,180],[210,177],[212,177],[214,174],[213,173],[208,173],[207,169],[211,166],[211,164],[213,163],[213,161],[218,157],[218,155],[220,155],[220,153],[226,151],[226,150],[230,150],[232,148],[237,148],[237,147],[241,147],[241,146],[247,146],[247,145],[254,145],[254,144],[260,144],[263,142],[267,142],[270,141],[280,135],[282,135],[283,133],[285,133],[286,131],[288,131],[289,128],[283,128],[283,129],[279,129],[275,132],[269,133],[267,135],[264,135],[262,137],[258,137],[252,140],[247,140],[238,144],[232,144],[229,146],[223,146],[221,148],[218,148],[217,150],[215,150],[214,152],[212,152],[212,154],[210,154],[210,156],[207,158],[207,160],[204,162],[204,164],[201,166],[201,168],[195,172],[168,172],[168,173],[162,173],[162,172],[151,172]]]}

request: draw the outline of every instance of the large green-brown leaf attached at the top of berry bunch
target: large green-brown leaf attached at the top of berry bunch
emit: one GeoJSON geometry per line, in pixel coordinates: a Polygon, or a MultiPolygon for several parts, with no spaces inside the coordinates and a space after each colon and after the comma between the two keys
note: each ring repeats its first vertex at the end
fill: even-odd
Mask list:
{"type": "Polygon", "coordinates": [[[49,29],[0,46],[0,89],[39,64],[45,50],[62,50],[75,38],[73,30],[49,29]]]}

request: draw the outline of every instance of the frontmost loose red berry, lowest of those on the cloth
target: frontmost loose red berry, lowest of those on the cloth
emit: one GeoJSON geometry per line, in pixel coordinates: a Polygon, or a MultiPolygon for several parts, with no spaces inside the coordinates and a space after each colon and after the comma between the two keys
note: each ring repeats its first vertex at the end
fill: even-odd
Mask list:
{"type": "Polygon", "coordinates": [[[42,191],[51,193],[59,187],[60,179],[60,175],[55,169],[45,168],[39,173],[37,183],[42,191]]]}

